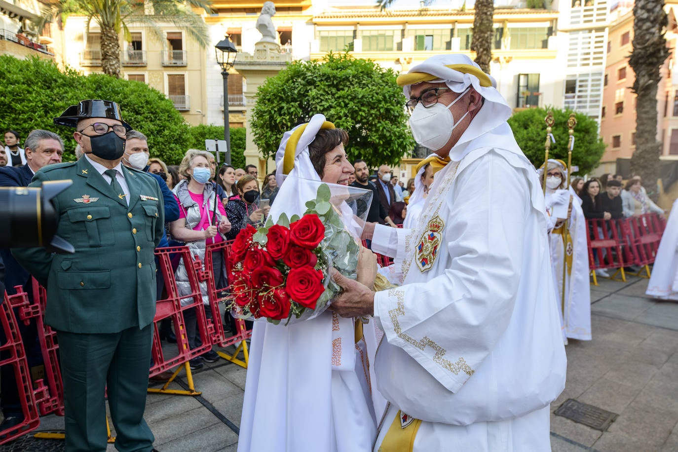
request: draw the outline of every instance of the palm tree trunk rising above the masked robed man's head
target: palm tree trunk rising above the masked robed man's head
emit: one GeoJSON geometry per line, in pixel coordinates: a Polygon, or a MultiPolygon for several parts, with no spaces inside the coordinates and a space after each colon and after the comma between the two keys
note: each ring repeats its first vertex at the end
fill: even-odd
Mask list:
{"type": "MultiPolygon", "coordinates": [[[[377,5],[384,10],[391,6],[395,0],[377,0],[377,5]]],[[[434,0],[423,0],[422,6],[428,6],[434,0]]],[[[473,38],[471,50],[475,51],[475,62],[483,72],[490,73],[492,61],[492,41],[494,40],[494,0],[476,0],[475,15],[473,16],[473,38]]],[[[466,10],[466,0],[462,10],[466,10]]]]}

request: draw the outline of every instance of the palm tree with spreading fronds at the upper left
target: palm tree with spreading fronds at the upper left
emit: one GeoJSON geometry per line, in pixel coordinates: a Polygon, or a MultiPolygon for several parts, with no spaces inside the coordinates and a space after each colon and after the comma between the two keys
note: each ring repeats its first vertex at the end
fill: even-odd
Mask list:
{"type": "Polygon", "coordinates": [[[129,37],[129,25],[140,24],[149,28],[160,40],[163,33],[159,24],[172,23],[186,31],[201,47],[207,45],[207,26],[192,8],[211,12],[207,0],[58,0],[43,12],[39,28],[61,16],[63,20],[73,14],[87,16],[87,31],[94,20],[101,29],[101,66],[104,74],[120,77],[120,33],[129,37]]]}

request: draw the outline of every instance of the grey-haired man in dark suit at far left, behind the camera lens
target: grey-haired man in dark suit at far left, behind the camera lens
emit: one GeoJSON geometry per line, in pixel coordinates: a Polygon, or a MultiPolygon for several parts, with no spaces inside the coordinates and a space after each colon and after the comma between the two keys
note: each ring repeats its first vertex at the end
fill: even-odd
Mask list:
{"type": "MultiPolygon", "coordinates": [[[[28,134],[24,144],[26,165],[20,167],[0,167],[0,187],[25,187],[31,183],[33,174],[45,165],[61,163],[64,153],[64,142],[56,133],[47,130],[33,130],[28,134]]],[[[5,212],[6,213],[6,212],[5,212]]],[[[7,294],[14,295],[15,287],[21,286],[31,295],[31,275],[19,265],[8,248],[0,249],[0,258],[5,262],[5,275],[1,278],[7,287],[7,294]]],[[[1,295],[1,292],[0,292],[1,295]]],[[[38,342],[38,333],[35,322],[19,323],[19,331],[24,342],[28,366],[42,364],[42,354],[38,342]]],[[[7,356],[0,356],[5,358],[7,356]]],[[[0,394],[3,415],[5,420],[0,424],[0,431],[16,426],[24,419],[20,400],[16,390],[16,377],[11,366],[0,368],[0,394]]]]}

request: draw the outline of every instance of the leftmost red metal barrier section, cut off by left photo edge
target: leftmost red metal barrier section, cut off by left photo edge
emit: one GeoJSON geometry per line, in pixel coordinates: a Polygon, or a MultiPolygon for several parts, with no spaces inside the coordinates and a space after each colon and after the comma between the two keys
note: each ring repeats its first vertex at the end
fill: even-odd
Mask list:
{"type": "MultiPolygon", "coordinates": [[[[28,295],[21,291],[12,295],[14,304],[28,304],[28,295]]],[[[0,445],[5,444],[19,436],[35,430],[40,425],[40,417],[35,400],[35,393],[43,394],[47,388],[42,380],[35,382],[37,389],[33,389],[31,384],[31,373],[28,371],[28,361],[26,361],[26,352],[24,344],[19,333],[18,323],[12,310],[7,293],[3,293],[3,303],[0,306],[0,323],[5,332],[5,343],[0,345],[2,352],[8,353],[9,357],[0,360],[0,366],[12,366],[14,376],[17,382],[18,397],[21,405],[21,411],[24,420],[16,426],[7,428],[0,432],[0,445]]],[[[3,353],[4,354],[4,353],[3,353]]]]}

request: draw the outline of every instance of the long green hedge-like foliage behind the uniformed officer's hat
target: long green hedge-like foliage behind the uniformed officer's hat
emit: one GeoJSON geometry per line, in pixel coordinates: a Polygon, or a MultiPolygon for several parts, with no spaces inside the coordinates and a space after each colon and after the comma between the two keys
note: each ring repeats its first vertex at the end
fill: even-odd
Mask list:
{"type": "Polygon", "coordinates": [[[0,56],[0,73],[0,129],[14,129],[22,139],[33,129],[54,131],[64,138],[64,161],[75,160],[74,129],[54,125],[53,119],[84,99],[117,102],[123,119],[148,137],[153,157],[178,163],[188,149],[188,124],[172,101],[145,83],[102,74],[83,76],[71,68],[62,72],[37,57],[0,56]]]}

